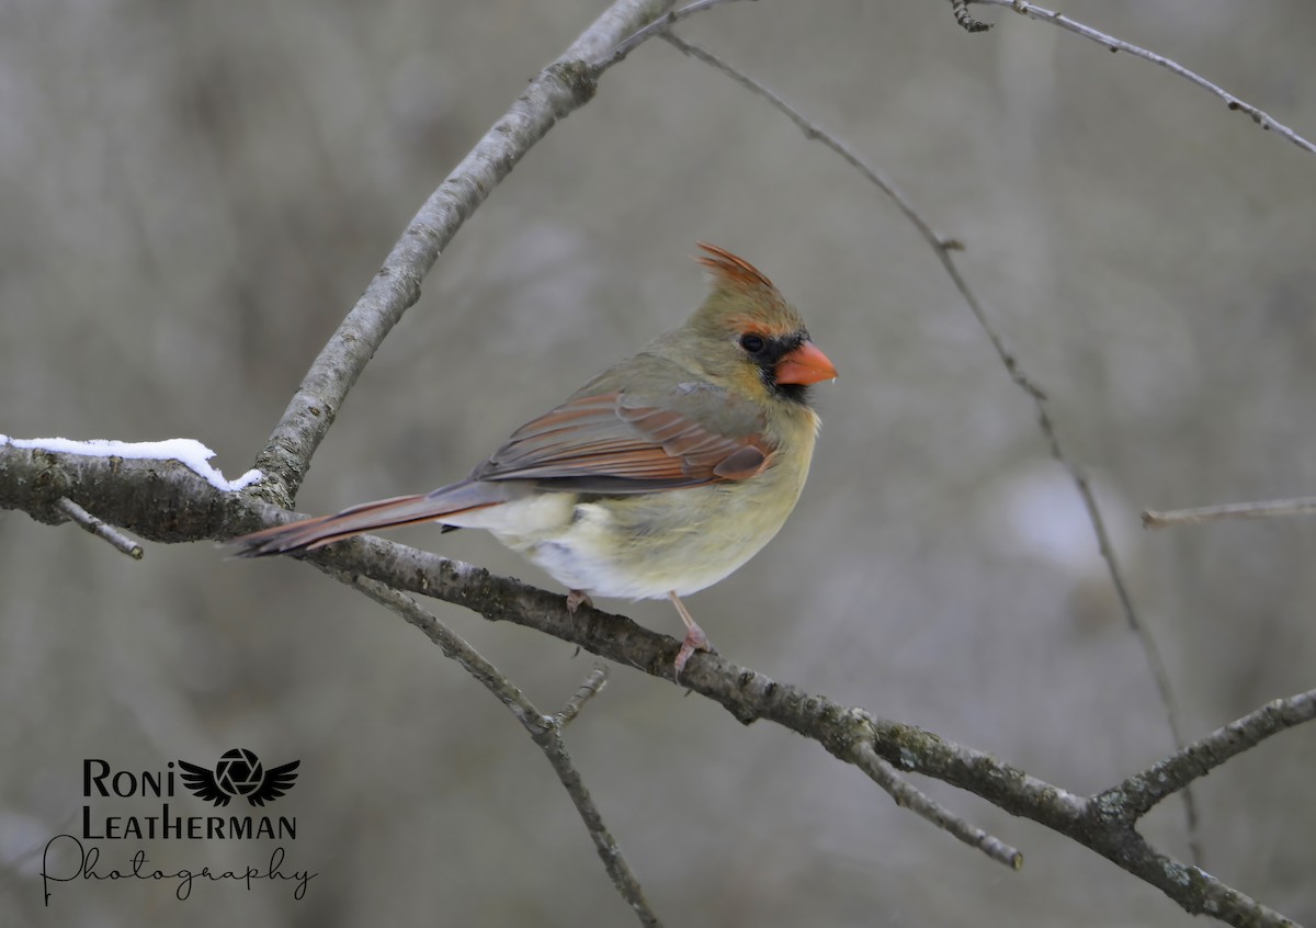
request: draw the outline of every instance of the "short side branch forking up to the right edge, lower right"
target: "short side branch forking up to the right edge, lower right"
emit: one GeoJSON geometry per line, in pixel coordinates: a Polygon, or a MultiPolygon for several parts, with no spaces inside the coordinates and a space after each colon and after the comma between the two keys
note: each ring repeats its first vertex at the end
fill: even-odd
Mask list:
{"type": "Polygon", "coordinates": [[[1133,820],[1146,815],[1158,802],[1205,777],[1225,761],[1255,748],[1266,738],[1316,719],[1316,690],[1275,699],[1224,728],[1216,729],[1171,757],[1107,790],[1103,798],[1120,796],[1124,813],[1133,820]]]}

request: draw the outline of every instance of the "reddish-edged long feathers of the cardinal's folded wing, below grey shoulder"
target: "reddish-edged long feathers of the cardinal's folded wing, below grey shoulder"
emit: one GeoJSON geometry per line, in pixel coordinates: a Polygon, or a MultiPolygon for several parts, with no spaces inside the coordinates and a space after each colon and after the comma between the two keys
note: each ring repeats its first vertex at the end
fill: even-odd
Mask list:
{"type": "Polygon", "coordinates": [[[644,492],[744,480],[769,453],[759,436],[728,438],[672,409],[629,407],[612,392],[570,400],[522,425],[471,477],[644,492]]]}

